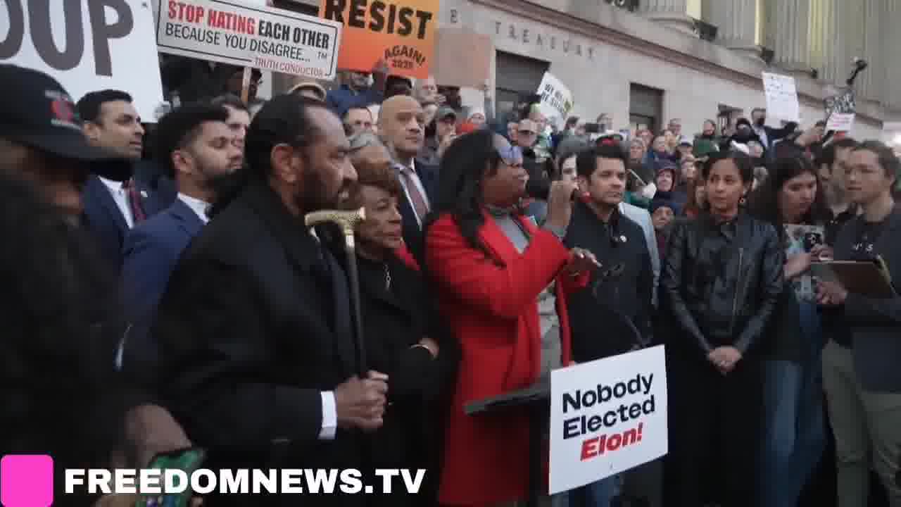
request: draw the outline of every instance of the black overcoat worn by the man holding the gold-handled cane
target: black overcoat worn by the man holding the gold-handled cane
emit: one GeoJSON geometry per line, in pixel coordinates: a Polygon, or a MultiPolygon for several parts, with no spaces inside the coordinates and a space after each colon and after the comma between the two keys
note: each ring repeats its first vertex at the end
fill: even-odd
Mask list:
{"type": "MultiPolygon", "coordinates": [[[[197,235],[153,333],[161,392],[210,468],[359,468],[358,432],[320,439],[321,392],[357,372],[346,276],[264,182],[197,235]]],[[[361,495],[242,495],[209,505],[356,505],[361,495]]]]}

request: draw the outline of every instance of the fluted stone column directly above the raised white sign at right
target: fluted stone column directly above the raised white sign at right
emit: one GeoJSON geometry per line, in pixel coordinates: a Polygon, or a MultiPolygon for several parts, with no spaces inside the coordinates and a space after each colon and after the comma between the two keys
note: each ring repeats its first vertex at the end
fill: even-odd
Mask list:
{"type": "Polygon", "coordinates": [[[767,2],[770,10],[770,41],[774,44],[773,65],[789,72],[808,74],[810,0],[767,2]]]}

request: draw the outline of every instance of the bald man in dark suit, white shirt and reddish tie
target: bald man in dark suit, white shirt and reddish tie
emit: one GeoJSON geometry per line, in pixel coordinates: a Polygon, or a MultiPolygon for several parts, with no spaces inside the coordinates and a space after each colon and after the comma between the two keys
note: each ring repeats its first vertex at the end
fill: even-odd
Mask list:
{"type": "Polygon", "coordinates": [[[404,242],[420,261],[423,258],[423,223],[438,183],[438,167],[416,158],[425,140],[423,122],[423,106],[405,95],[387,99],[378,112],[378,135],[394,158],[397,178],[404,188],[404,198],[400,202],[404,242]]]}

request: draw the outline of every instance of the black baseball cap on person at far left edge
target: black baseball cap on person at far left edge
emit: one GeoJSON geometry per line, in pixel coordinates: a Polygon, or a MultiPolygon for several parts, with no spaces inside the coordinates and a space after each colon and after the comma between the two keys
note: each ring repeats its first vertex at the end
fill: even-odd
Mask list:
{"type": "Polygon", "coordinates": [[[0,137],[78,161],[119,158],[91,146],[81,131],[72,97],[59,82],[34,69],[0,64],[0,137]]]}

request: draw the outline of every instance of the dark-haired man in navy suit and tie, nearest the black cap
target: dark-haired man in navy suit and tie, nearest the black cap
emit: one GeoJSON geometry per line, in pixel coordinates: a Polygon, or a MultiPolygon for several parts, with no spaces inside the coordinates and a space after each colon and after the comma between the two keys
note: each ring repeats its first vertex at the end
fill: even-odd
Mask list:
{"type": "Polygon", "coordinates": [[[88,142],[119,157],[91,165],[83,194],[84,225],[107,263],[119,272],[125,234],[171,201],[161,197],[150,181],[134,177],[134,168],[141,162],[144,128],[132,96],[119,90],[94,91],[82,97],[76,108],[88,142]]]}

